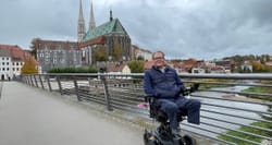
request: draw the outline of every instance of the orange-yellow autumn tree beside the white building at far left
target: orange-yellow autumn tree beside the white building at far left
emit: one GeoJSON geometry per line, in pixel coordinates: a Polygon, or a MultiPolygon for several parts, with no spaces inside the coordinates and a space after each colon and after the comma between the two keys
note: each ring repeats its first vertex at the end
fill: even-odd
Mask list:
{"type": "Polygon", "coordinates": [[[21,74],[37,74],[38,70],[36,69],[34,60],[29,57],[25,60],[24,65],[21,69],[21,74]]]}

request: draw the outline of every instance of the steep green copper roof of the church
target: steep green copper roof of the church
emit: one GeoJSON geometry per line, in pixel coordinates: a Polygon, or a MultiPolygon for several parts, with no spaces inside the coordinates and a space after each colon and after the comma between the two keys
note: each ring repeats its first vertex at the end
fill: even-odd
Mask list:
{"type": "Polygon", "coordinates": [[[84,36],[83,41],[87,41],[98,36],[111,34],[111,33],[120,33],[123,35],[127,35],[125,28],[122,26],[119,19],[113,19],[112,21],[107,22],[94,29],[89,29],[87,34],[84,36]]]}

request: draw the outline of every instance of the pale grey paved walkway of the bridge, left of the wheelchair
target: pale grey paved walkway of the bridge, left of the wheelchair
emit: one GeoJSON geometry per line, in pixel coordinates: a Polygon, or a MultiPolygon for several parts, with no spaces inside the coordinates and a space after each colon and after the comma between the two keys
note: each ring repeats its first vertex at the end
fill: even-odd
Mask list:
{"type": "Polygon", "coordinates": [[[16,82],[2,84],[0,145],[143,145],[143,131],[16,82]]]}

